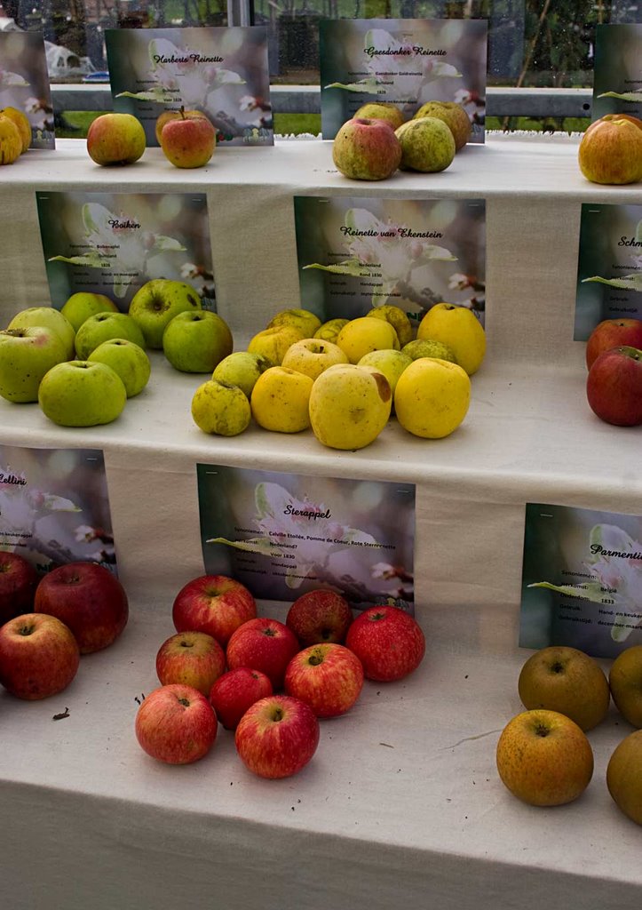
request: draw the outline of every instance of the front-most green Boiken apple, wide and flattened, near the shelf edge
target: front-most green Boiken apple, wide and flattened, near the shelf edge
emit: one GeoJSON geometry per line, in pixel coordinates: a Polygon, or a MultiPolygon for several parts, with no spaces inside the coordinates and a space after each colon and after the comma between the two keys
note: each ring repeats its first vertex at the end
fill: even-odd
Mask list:
{"type": "Polygon", "coordinates": [[[68,360],[52,367],[40,383],[38,403],[61,427],[111,423],[125,408],[123,380],[105,363],[68,360]]]}

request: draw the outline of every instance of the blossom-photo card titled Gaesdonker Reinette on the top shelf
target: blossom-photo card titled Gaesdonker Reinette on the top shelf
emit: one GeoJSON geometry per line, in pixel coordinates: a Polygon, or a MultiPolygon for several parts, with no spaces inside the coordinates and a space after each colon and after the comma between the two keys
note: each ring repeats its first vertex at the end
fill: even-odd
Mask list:
{"type": "Polygon", "coordinates": [[[369,102],[406,120],[428,101],[464,106],[469,142],[484,142],[487,20],[336,19],[319,23],[321,129],[334,139],[369,102]]]}

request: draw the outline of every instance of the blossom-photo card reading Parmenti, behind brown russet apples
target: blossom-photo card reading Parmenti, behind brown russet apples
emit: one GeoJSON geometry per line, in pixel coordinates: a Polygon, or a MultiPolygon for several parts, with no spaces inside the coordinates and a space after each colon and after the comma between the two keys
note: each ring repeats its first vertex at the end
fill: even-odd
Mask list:
{"type": "Polygon", "coordinates": [[[519,645],[642,644],[642,517],[528,502],[519,645]]]}

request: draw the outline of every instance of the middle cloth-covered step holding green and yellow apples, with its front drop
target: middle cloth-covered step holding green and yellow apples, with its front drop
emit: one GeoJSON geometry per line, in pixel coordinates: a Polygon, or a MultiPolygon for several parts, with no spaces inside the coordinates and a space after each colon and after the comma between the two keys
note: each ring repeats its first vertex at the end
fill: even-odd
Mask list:
{"type": "MultiPolygon", "coordinates": [[[[196,464],[416,485],[416,603],[520,601],[525,503],[642,514],[642,428],[598,420],[586,368],[485,361],[472,377],[466,420],[443,440],[422,440],[393,418],[366,449],[338,451],[312,430],[284,435],[251,424],[210,436],[191,417],[206,377],[152,355],[147,388],[104,427],[60,428],[37,404],[0,401],[7,444],[105,450],[116,551],[128,590],[177,591],[203,569],[196,464]]],[[[507,649],[515,642],[508,642],[507,649]]]]}

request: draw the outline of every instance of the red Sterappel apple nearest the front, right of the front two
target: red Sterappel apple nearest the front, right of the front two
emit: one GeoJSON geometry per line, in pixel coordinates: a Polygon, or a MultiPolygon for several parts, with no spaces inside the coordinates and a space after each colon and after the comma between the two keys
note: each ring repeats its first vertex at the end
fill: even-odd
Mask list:
{"type": "Polygon", "coordinates": [[[305,768],[319,742],[319,722],[305,702],[269,695],[249,707],[236,727],[236,751],[259,777],[290,777],[305,768]]]}

